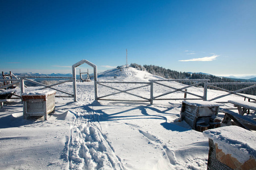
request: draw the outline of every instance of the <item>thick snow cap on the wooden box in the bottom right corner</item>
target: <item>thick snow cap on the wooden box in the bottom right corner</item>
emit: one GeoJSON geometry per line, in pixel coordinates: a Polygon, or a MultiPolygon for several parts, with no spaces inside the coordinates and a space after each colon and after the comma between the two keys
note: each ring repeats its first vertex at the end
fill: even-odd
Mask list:
{"type": "Polygon", "coordinates": [[[225,126],[203,132],[205,137],[218,144],[225,154],[231,154],[240,163],[245,163],[251,156],[256,158],[256,133],[239,126],[225,126]]]}

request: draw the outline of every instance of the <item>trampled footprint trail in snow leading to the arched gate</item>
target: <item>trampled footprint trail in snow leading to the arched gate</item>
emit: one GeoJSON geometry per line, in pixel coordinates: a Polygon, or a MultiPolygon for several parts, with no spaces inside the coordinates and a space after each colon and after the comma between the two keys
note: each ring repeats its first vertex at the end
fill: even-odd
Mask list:
{"type": "Polygon", "coordinates": [[[69,169],[124,169],[101,132],[98,114],[84,103],[75,111],[68,141],[69,169]]]}

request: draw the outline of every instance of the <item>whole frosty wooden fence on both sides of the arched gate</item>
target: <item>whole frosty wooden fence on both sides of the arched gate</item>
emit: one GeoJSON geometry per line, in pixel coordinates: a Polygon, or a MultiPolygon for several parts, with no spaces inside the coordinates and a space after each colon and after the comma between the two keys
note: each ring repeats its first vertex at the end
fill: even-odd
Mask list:
{"type": "MultiPolygon", "coordinates": [[[[63,90],[58,90],[57,88],[53,87],[53,86],[57,86],[57,85],[62,84],[62,83],[73,81],[72,77],[64,77],[64,76],[23,76],[23,77],[20,77],[20,79],[0,79],[0,82],[3,82],[3,81],[12,82],[12,83],[7,84],[5,86],[1,86],[0,89],[10,87],[10,86],[13,86],[15,84],[20,83],[20,92],[21,92],[21,94],[23,94],[25,92],[24,80],[27,80],[28,82],[31,82],[31,83],[34,83],[34,84],[38,84],[40,86],[44,86],[43,88],[40,88],[40,89],[50,88],[52,90],[56,90],[56,91],[59,91],[59,92],[65,94],[65,96],[56,96],[56,97],[74,97],[74,94],[70,94],[68,92],[65,92],[63,90]],[[67,79],[67,80],[64,80],[62,82],[58,82],[58,83],[55,83],[55,84],[52,84],[52,85],[48,86],[46,84],[36,82],[35,80],[31,80],[30,78],[67,79]]],[[[108,87],[108,88],[111,88],[112,90],[118,91],[118,92],[114,92],[112,94],[108,94],[108,95],[104,95],[104,96],[98,96],[97,93],[95,93],[96,94],[96,96],[95,96],[96,100],[146,101],[146,102],[150,102],[150,104],[153,104],[154,100],[205,100],[205,101],[215,101],[217,99],[221,99],[225,96],[229,96],[229,95],[233,94],[233,95],[237,95],[237,96],[240,96],[240,97],[247,98],[249,100],[256,101],[255,97],[253,98],[253,97],[247,96],[245,94],[241,94],[242,91],[246,91],[246,90],[249,90],[251,88],[256,88],[256,82],[208,83],[209,79],[162,79],[162,80],[150,80],[150,82],[106,82],[106,81],[105,82],[96,81],[96,82],[97,82],[97,86],[100,85],[100,86],[108,87]],[[175,88],[173,86],[170,86],[170,84],[169,85],[163,84],[163,82],[193,82],[193,84],[191,84],[191,85],[183,84],[183,87],[175,88]],[[124,84],[124,83],[125,84],[140,84],[141,86],[129,88],[127,90],[120,90],[118,88],[106,85],[107,83],[112,83],[112,84],[113,83],[117,83],[117,84],[124,84]],[[154,84],[158,84],[159,86],[170,88],[170,91],[166,91],[163,94],[154,96],[154,84]],[[195,94],[193,92],[186,91],[187,88],[193,87],[193,86],[199,86],[200,84],[203,84],[203,87],[204,87],[202,95],[198,95],[198,94],[195,94]],[[246,85],[246,86],[249,86],[249,87],[241,88],[240,90],[230,91],[230,90],[226,90],[225,88],[217,87],[217,86],[220,86],[220,85],[232,85],[232,86],[246,85]],[[138,94],[133,94],[133,93],[130,92],[132,90],[136,90],[138,88],[143,88],[143,87],[147,87],[147,86],[150,86],[150,91],[149,91],[150,97],[148,97],[148,98],[143,97],[143,96],[138,95],[138,94]],[[225,91],[225,92],[227,92],[227,94],[214,97],[213,99],[207,99],[207,91],[208,91],[209,87],[214,88],[216,90],[225,91]],[[169,95],[169,94],[173,94],[175,92],[184,92],[185,95],[189,94],[189,95],[195,96],[196,98],[187,98],[187,97],[184,97],[184,98],[170,98],[170,97],[168,98],[168,97],[166,97],[166,98],[164,98],[163,97],[163,96],[166,96],[166,95],[169,95]],[[135,96],[135,97],[139,97],[142,100],[106,99],[106,97],[108,97],[108,96],[113,96],[113,95],[117,95],[117,94],[121,94],[121,93],[129,94],[129,95],[132,95],[132,96],[135,96]]],[[[96,90],[97,90],[97,88],[96,88],[96,90]]],[[[19,95],[15,95],[15,96],[20,97],[19,95]]],[[[218,102],[219,103],[226,103],[225,101],[218,101],[218,102]]]]}

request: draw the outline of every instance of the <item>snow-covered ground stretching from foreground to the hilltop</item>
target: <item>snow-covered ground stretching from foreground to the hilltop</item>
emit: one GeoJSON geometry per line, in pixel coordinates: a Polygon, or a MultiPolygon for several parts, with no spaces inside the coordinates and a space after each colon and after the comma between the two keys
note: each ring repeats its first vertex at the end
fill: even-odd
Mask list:
{"type": "MultiPolygon", "coordinates": [[[[148,82],[163,79],[146,71],[121,68],[98,75],[100,81],[148,82]],[[116,77],[116,78],[115,78],[116,77]]],[[[173,87],[184,84],[168,83],[173,87]]],[[[108,84],[127,90],[138,84],[108,84]]],[[[141,86],[141,85],[139,85],[141,86]]],[[[28,87],[26,92],[40,87],[28,87]]],[[[72,93],[72,82],[56,86],[72,93]]],[[[154,86],[154,95],[167,92],[154,86]]],[[[203,88],[188,91],[202,95],[203,88]]],[[[98,85],[98,95],[117,92],[98,85]]],[[[150,87],[130,91],[150,97],[150,87]]],[[[16,89],[16,94],[19,94],[16,89]]],[[[59,92],[57,92],[59,93],[59,92]]],[[[208,90],[208,99],[225,92],[208,90]]],[[[168,97],[182,98],[181,92],[168,97]]],[[[189,95],[187,96],[189,97],[189,95]]],[[[128,94],[109,99],[141,100],[128,94]]],[[[16,100],[0,109],[0,169],[206,169],[208,138],[178,122],[181,100],[148,102],[94,101],[93,82],[77,83],[77,102],[56,98],[55,112],[23,120],[16,100]]],[[[221,101],[243,100],[227,96],[221,101]]],[[[229,107],[229,106],[226,106],[229,107]]],[[[223,114],[219,115],[223,117],[223,114]]],[[[255,116],[252,114],[251,116],[255,116]]]]}

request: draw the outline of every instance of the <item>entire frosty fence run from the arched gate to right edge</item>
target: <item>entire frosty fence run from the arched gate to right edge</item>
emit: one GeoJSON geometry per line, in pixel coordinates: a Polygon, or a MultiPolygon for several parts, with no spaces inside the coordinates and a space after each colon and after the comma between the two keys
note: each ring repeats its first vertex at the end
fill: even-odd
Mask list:
{"type": "MultiPolygon", "coordinates": [[[[233,95],[245,97],[247,99],[255,100],[256,101],[255,98],[252,98],[250,96],[246,96],[246,95],[243,95],[243,94],[239,93],[239,92],[251,89],[251,88],[255,88],[256,87],[256,82],[209,83],[209,81],[210,81],[209,79],[167,79],[167,80],[166,79],[161,79],[161,80],[150,80],[150,82],[107,82],[107,81],[100,82],[100,81],[98,81],[97,82],[98,85],[104,86],[104,87],[108,87],[108,88],[111,88],[113,90],[117,90],[118,92],[114,92],[112,94],[108,94],[108,95],[97,97],[97,100],[109,100],[109,101],[146,101],[146,102],[150,101],[150,104],[153,104],[154,100],[205,100],[205,101],[214,101],[214,100],[217,100],[217,99],[221,99],[222,97],[229,96],[229,95],[233,94],[233,95]],[[183,84],[184,87],[175,88],[173,86],[170,86],[170,85],[167,85],[167,84],[163,84],[162,82],[193,82],[193,84],[190,84],[190,85],[183,84]],[[106,85],[105,83],[146,84],[146,85],[130,88],[128,90],[119,90],[119,89],[117,89],[115,87],[110,87],[110,86],[106,85]],[[154,84],[158,84],[159,86],[170,88],[172,91],[166,91],[163,94],[160,94],[158,96],[154,96],[154,84]],[[204,87],[202,95],[198,95],[198,94],[195,94],[193,92],[188,92],[187,91],[187,88],[193,87],[193,86],[198,86],[199,84],[203,84],[203,87],[204,87]],[[233,86],[248,85],[249,87],[241,88],[240,90],[236,90],[236,91],[230,91],[230,90],[226,90],[225,88],[217,87],[218,85],[233,85],[233,86]],[[131,94],[129,92],[131,90],[136,90],[138,88],[142,88],[142,87],[146,87],[146,86],[150,86],[150,98],[146,98],[146,97],[142,97],[142,96],[139,96],[139,95],[131,94]],[[215,88],[217,90],[228,92],[228,94],[220,95],[220,96],[214,97],[213,99],[209,99],[208,100],[207,99],[207,91],[208,91],[209,87],[215,88]],[[174,94],[175,92],[183,92],[185,94],[184,98],[177,98],[177,97],[176,98],[164,98],[163,97],[163,96],[166,96],[166,95],[174,94]],[[132,96],[136,96],[136,97],[139,97],[139,98],[141,98],[143,100],[105,99],[105,97],[109,97],[109,96],[113,96],[113,95],[117,95],[117,94],[121,94],[121,93],[125,93],[125,94],[129,94],[129,95],[132,95],[132,96]],[[187,98],[187,97],[185,97],[185,96],[187,96],[187,94],[195,96],[195,98],[192,98],[192,97],[187,98]]],[[[225,103],[225,102],[219,101],[219,103],[225,103]]]]}

